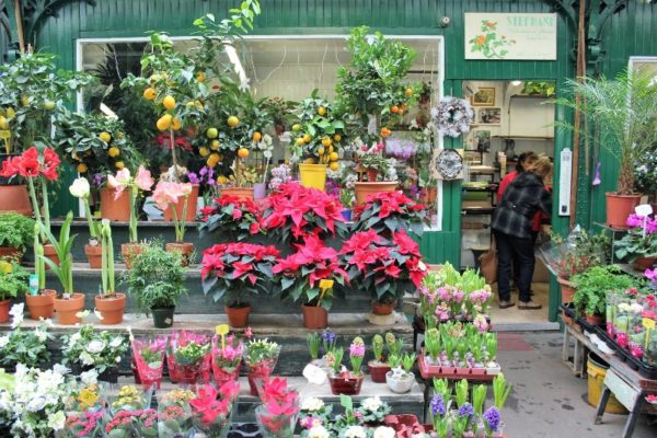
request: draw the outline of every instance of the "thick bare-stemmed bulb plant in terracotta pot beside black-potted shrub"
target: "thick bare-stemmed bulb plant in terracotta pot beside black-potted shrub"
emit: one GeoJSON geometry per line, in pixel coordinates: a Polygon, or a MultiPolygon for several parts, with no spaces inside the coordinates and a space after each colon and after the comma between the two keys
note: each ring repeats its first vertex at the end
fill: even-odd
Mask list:
{"type": "Polygon", "coordinates": [[[126,295],[116,291],[114,281],[114,243],[110,220],[101,224],[101,293],[95,297],[102,324],[120,324],[126,310],[126,295]]]}

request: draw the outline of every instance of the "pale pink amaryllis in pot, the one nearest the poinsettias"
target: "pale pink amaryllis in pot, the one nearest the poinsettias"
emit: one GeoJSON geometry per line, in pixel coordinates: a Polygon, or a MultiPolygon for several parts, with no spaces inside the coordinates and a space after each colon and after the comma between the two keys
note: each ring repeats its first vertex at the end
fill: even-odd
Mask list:
{"type": "Polygon", "coordinates": [[[187,226],[187,204],[192,193],[192,184],[177,183],[161,180],[153,191],[153,201],[162,211],[171,210],[175,228],[175,242],[166,243],[166,251],[177,251],[182,255],[183,266],[189,265],[194,244],[185,242],[185,231],[187,226]],[[182,214],[178,216],[177,205],[183,199],[182,214]]]}

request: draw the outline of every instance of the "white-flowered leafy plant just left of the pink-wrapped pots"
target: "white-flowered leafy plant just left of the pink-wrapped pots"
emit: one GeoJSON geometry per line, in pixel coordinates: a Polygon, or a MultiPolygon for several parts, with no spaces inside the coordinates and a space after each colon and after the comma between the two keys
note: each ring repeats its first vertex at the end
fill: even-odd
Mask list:
{"type": "Polygon", "coordinates": [[[62,336],[64,361],[83,369],[95,369],[99,373],[117,367],[128,349],[127,337],[107,331],[95,331],[93,325],[82,326],[78,332],[62,336]]]}

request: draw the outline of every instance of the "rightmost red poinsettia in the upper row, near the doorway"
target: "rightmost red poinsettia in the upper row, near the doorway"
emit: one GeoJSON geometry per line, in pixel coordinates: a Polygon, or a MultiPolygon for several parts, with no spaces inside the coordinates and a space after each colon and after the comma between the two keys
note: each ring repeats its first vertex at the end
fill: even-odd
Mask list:
{"type": "Polygon", "coordinates": [[[424,231],[426,207],[402,192],[368,196],[355,212],[356,231],[374,230],[385,237],[400,230],[420,237],[424,231]]]}

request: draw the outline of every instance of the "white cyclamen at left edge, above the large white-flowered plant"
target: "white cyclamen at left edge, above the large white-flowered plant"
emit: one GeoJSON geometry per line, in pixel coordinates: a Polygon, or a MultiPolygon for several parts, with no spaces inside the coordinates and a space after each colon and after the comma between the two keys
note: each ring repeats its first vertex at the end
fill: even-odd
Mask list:
{"type": "Polygon", "coordinates": [[[0,336],[0,365],[3,367],[13,368],[23,364],[36,368],[50,359],[47,342],[53,339],[48,334],[51,321],[45,320],[33,330],[23,330],[23,303],[12,306],[10,314],[13,331],[0,336]]]}

